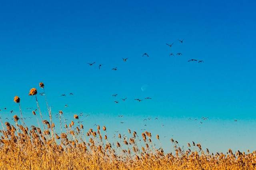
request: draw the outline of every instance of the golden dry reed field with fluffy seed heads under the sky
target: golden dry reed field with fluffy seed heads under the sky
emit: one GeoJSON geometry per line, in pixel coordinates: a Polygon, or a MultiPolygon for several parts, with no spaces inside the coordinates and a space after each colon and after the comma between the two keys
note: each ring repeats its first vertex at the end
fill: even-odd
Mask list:
{"type": "MultiPolygon", "coordinates": [[[[43,83],[39,85],[44,89],[43,83]]],[[[256,151],[210,153],[199,143],[191,142],[180,148],[178,141],[170,139],[175,152],[166,153],[152,143],[152,138],[156,138],[161,146],[160,136],[147,131],[138,134],[128,129],[127,135],[118,134],[115,143],[110,143],[107,127],[86,130],[78,115],[65,124],[63,112],[59,111],[59,122],[52,122],[45,96],[49,113],[46,120],[42,117],[36,88],[29,95],[35,97],[38,107],[31,113],[37,125],[27,127],[24,123],[18,96],[14,102],[20,108],[20,115],[14,115],[12,122],[3,122],[0,117],[0,169],[256,169],[256,151]],[[56,126],[61,132],[56,131],[56,126]]]]}

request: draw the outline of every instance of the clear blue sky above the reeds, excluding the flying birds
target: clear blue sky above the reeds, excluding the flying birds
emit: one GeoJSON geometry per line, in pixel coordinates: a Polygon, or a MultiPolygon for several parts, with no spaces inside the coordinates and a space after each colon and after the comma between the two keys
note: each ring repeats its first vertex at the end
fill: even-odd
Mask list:
{"type": "MultiPolygon", "coordinates": [[[[255,6],[247,0],[2,1],[1,117],[18,114],[15,95],[31,116],[26,107],[36,103],[28,92],[42,91],[42,81],[52,111],[70,119],[90,114],[80,118],[86,128],[106,125],[112,134],[146,128],[162,136],[165,148],[172,137],[212,151],[255,149],[255,6]],[[134,100],[145,97],[152,100],[134,100]]],[[[47,117],[44,97],[38,98],[47,117]]]]}

